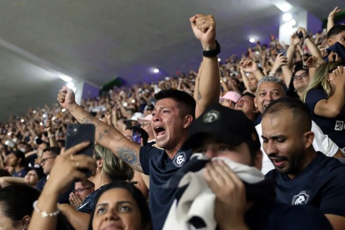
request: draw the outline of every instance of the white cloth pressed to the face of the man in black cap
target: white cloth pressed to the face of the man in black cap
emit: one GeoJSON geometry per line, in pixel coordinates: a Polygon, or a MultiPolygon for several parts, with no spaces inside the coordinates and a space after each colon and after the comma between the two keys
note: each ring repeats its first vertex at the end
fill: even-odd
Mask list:
{"type": "MultiPolygon", "coordinates": [[[[194,155],[193,157],[201,155],[194,155]]],[[[227,158],[213,158],[212,161],[223,160],[237,176],[247,183],[257,183],[265,179],[255,167],[235,163],[227,158]]],[[[203,176],[203,170],[186,173],[178,187],[188,185],[178,201],[175,199],[170,208],[163,230],[195,230],[189,223],[193,217],[201,218],[206,227],[198,230],[214,230],[217,223],[214,219],[216,195],[212,192],[203,176]],[[177,204],[177,205],[176,205],[177,204]]]]}

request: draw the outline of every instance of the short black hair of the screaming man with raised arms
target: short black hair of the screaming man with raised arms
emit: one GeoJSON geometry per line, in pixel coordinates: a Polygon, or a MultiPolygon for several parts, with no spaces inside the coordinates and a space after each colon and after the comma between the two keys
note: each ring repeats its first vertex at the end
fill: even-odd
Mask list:
{"type": "Polygon", "coordinates": [[[195,119],[196,102],[192,96],[177,89],[164,89],[155,94],[157,101],[170,98],[179,104],[181,115],[192,115],[195,119]]]}

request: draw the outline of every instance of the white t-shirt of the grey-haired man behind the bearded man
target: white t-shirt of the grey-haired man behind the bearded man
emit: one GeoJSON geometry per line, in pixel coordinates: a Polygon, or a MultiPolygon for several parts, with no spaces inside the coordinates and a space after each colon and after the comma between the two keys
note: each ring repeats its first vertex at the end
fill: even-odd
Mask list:
{"type": "MultiPolygon", "coordinates": [[[[260,124],[255,126],[256,131],[259,135],[259,140],[261,144],[261,151],[263,153],[262,158],[262,169],[261,172],[266,174],[274,169],[274,165],[271,160],[268,158],[267,154],[265,153],[264,149],[262,148],[262,127],[261,122],[260,124]]],[[[325,154],[327,157],[333,157],[339,150],[339,147],[336,143],[334,143],[327,135],[325,135],[321,128],[314,122],[311,121],[311,131],[315,134],[313,147],[315,151],[320,151],[325,154]]]]}

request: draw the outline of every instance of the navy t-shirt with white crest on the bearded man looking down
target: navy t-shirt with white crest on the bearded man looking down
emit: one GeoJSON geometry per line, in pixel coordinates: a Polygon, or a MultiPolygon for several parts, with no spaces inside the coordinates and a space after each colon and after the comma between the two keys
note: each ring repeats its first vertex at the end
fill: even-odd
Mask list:
{"type": "Polygon", "coordinates": [[[289,205],[309,204],[323,214],[345,217],[345,164],[317,152],[309,165],[293,179],[271,170],[267,178],[276,182],[279,202],[289,205]]]}

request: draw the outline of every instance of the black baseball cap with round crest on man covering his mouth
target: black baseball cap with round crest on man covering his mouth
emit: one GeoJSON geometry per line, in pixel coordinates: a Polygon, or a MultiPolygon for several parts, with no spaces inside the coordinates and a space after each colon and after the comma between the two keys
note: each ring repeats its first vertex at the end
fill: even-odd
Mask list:
{"type": "Polygon", "coordinates": [[[207,138],[231,146],[246,142],[251,150],[260,149],[259,136],[252,121],[242,111],[232,110],[220,104],[210,106],[191,124],[188,139],[182,145],[182,150],[195,149],[207,138]]]}

